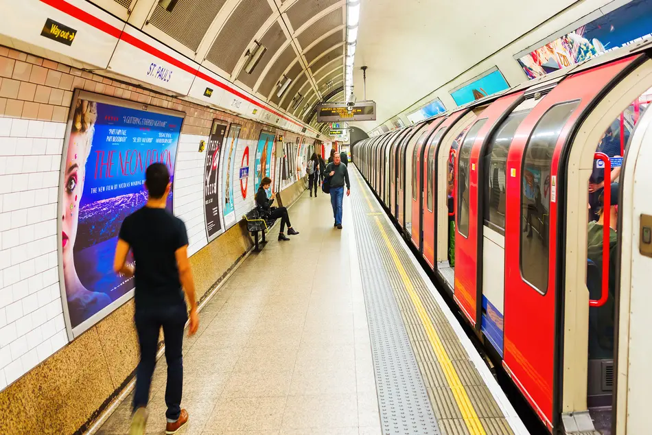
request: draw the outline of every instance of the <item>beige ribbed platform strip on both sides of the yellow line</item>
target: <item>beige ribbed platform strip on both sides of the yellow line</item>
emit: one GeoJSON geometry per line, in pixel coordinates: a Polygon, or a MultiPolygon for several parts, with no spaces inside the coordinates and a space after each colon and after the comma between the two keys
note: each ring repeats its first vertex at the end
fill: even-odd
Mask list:
{"type": "MultiPolygon", "coordinates": [[[[358,175],[357,171],[352,178],[356,179],[360,189],[366,188],[366,186],[362,185],[364,180],[358,175]]],[[[370,196],[371,193],[366,193],[366,195],[370,196]]],[[[360,196],[364,196],[364,194],[360,196]]],[[[391,244],[393,252],[395,252],[395,255],[397,255],[398,260],[405,269],[404,273],[410,280],[413,291],[416,292],[425,307],[428,318],[441,340],[441,345],[445,349],[450,364],[454,367],[460,384],[463,386],[469,398],[468,400],[482,425],[483,432],[482,430],[478,431],[476,428],[476,432],[474,433],[486,433],[489,435],[513,434],[507,419],[504,418],[498,407],[498,403],[496,403],[489,388],[487,388],[475,366],[469,360],[469,355],[467,355],[461,345],[460,340],[448,323],[441,308],[434,301],[428,287],[426,287],[423,279],[421,279],[421,275],[408,257],[408,252],[400,246],[399,239],[395,236],[391,224],[384,219],[378,220],[377,222],[371,220],[371,215],[377,214],[377,210],[375,210],[377,206],[375,202],[372,205],[369,202],[369,198],[367,200],[364,200],[364,198],[355,198],[353,202],[360,209],[358,210],[360,217],[356,216],[361,220],[357,225],[358,228],[363,230],[366,237],[373,239],[371,242],[363,243],[375,245],[375,256],[380,257],[380,261],[384,265],[383,270],[385,271],[386,277],[388,277],[388,285],[392,289],[394,300],[399,305],[399,311],[404,321],[404,329],[412,345],[412,350],[417,360],[419,371],[423,377],[423,382],[426,384],[428,397],[436,419],[439,421],[441,432],[446,435],[469,434],[469,426],[463,419],[452,388],[450,388],[441,364],[438,362],[432,345],[428,340],[423,322],[417,314],[414,303],[410,300],[404,280],[401,279],[399,272],[396,270],[395,262],[391,258],[390,252],[388,252],[388,247],[381,239],[380,231],[377,228],[379,224],[382,226],[381,231],[389,235],[387,242],[391,244]],[[365,216],[365,214],[369,216],[365,216]]],[[[362,235],[358,235],[358,239],[361,238],[362,235]]],[[[361,263],[362,261],[366,261],[366,257],[362,257],[361,255],[360,261],[361,263]]]]}

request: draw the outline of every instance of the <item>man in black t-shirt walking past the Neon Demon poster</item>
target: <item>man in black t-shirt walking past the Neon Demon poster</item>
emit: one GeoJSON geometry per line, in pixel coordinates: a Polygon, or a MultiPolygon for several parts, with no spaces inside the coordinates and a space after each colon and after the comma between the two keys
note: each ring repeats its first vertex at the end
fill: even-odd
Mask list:
{"type": "Polygon", "coordinates": [[[166,434],[175,434],[188,421],[181,409],[183,388],[183,329],[188,319],[185,296],[190,303],[189,335],[199,326],[195,284],[188,261],[185,224],[165,209],[170,195],[170,172],[154,163],[145,172],[147,204],[126,217],[120,228],[113,269],[124,277],[135,277],[135,322],[141,350],[136,374],[130,435],[145,433],[146,407],[152,373],[156,365],[159,330],[163,327],[167,360],[166,434]],[[126,262],[129,250],[134,264],[126,262]],[[138,265],[135,268],[135,265],[138,265]],[[182,290],[183,289],[183,290],[182,290]]]}

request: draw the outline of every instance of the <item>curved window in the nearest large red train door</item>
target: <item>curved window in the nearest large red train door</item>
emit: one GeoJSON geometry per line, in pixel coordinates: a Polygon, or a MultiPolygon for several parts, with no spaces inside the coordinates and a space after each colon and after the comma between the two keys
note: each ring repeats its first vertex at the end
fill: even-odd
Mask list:
{"type": "Polygon", "coordinates": [[[557,104],[539,120],[524,150],[521,168],[520,267],[525,281],[548,292],[550,166],[561,129],[579,102],[557,104]]]}

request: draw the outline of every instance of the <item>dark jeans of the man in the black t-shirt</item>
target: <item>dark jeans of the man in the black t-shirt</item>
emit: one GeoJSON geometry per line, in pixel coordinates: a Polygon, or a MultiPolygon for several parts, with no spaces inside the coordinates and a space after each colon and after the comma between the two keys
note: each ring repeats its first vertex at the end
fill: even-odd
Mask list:
{"type": "Polygon", "coordinates": [[[165,387],[165,416],[177,420],[181,414],[181,395],[183,392],[183,328],[188,320],[185,303],[154,307],[137,307],[134,316],[136,331],[141,348],[141,360],[136,373],[134,410],[147,406],[150,400],[152,373],[156,366],[156,350],[159,344],[159,331],[163,327],[165,338],[165,360],[167,361],[167,386],[165,387]]]}

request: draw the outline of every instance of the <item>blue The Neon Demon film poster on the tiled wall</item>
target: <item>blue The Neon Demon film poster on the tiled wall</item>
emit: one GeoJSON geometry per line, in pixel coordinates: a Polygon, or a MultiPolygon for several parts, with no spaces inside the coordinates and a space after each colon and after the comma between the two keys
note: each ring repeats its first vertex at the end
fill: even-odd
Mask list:
{"type": "MultiPolygon", "coordinates": [[[[183,113],[77,91],[62,154],[58,201],[59,278],[69,338],[133,294],[113,272],[125,217],[147,202],[145,170],[164,163],[174,179],[183,113]]],[[[167,198],[172,211],[172,189],[167,198]]],[[[132,255],[128,261],[133,263],[132,255]]]]}

